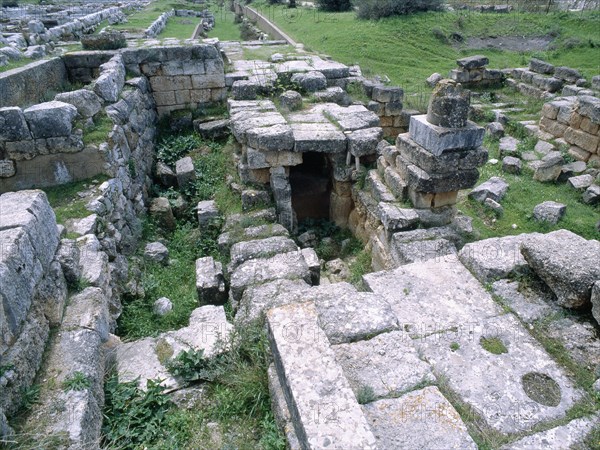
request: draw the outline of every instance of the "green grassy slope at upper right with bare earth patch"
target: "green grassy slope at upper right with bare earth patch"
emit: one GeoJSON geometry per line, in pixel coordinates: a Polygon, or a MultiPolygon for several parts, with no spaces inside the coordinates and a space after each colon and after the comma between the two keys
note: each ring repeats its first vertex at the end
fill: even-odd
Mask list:
{"type": "Polygon", "coordinates": [[[392,83],[410,92],[423,90],[425,78],[433,72],[446,74],[455,68],[457,58],[478,53],[489,57],[492,68],[520,67],[535,55],[553,64],[579,68],[588,78],[600,71],[598,11],[585,14],[429,12],[374,22],[357,20],[353,12],[323,13],[298,8],[292,17],[285,7],[272,8],[268,11],[274,22],[293,39],[342,63],[360,64],[366,74],[387,75],[392,83]],[[461,50],[440,42],[432,33],[434,28],[446,35],[459,32],[466,38],[542,36],[550,32],[558,32],[559,37],[557,49],[546,52],[461,50]],[[574,37],[581,40],[581,46],[564,48],[564,41],[574,37]]]}

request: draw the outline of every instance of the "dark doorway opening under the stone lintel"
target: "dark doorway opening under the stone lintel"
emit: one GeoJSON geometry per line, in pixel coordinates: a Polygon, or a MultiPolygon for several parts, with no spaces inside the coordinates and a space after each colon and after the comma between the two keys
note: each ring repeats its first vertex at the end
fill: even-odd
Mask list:
{"type": "Polygon", "coordinates": [[[302,164],[290,168],[292,207],[303,219],[329,219],[331,164],[324,153],[302,155],[302,164]]]}

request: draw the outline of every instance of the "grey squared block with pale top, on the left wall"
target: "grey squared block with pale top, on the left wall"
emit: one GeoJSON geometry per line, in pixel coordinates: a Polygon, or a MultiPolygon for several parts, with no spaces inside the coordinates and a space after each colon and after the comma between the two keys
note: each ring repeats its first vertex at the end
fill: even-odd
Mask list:
{"type": "Polygon", "coordinates": [[[23,111],[34,138],[69,136],[77,108],[63,102],[46,102],[23,111]]]}

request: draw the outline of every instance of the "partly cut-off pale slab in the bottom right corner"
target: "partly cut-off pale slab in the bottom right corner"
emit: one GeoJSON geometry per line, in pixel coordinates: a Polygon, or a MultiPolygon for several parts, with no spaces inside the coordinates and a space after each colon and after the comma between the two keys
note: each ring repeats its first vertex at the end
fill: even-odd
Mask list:
{"type": "Polygon", "coordinates": [[[583,448],[584,441],[595,426],[600,423],[598,415],[575,419],[566,425],[532,434],[500,450],[560,450],[563,448],[583,448]]]}

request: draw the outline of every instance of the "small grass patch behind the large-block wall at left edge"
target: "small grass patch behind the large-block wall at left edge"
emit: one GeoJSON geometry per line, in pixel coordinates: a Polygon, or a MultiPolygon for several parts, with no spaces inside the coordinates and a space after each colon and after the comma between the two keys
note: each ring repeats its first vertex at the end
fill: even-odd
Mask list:
{"type": "Polygon", "coordinates": [[[52,206],[54,214],[56,214],[56,222],[64,225],[69,219],[80,219],[89,216],[91,213],[85,207],[89,199],[79,198],[77,193],[86,190],[87,185],[92,183],[100,185],[107,179],[106,175],[98,175],[93,180],[76,181],[44,188],[43,191],[48,196],[48,202],[52,206]]]}

